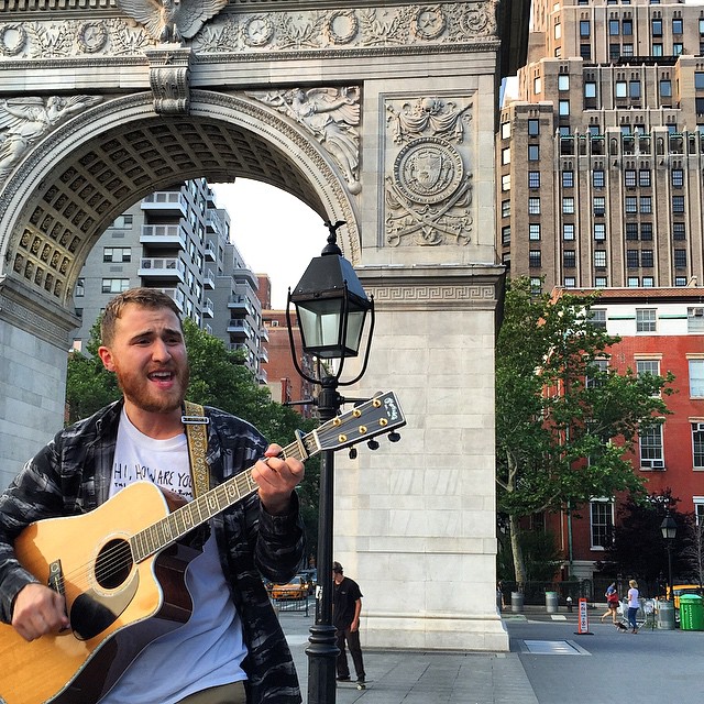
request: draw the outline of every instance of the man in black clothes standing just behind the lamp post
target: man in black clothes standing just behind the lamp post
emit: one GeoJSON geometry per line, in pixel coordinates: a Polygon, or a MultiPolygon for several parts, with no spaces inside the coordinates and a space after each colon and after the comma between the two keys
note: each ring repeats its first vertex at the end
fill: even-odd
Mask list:
{"type": "Polygon", "coordinates": [[[350,681],[350,666],[344,650],[346,642],[352,656],[352,663],[359,684],[364,683],[364,661],[362,647],[360,646],[360,614],[362,613],[362,592],[359,584],[344,576],[342,565],[332,563],[333,593],[332,593],[332,623],[337,629],[336,641],[340,654],[338,656],[337,670],[340,682],[350,681]]]}

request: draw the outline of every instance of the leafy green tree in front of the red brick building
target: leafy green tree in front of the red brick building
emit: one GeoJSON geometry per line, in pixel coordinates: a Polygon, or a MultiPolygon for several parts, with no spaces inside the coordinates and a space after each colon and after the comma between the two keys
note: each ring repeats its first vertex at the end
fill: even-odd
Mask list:
{"type": "Polygon", "coordinates": [[[526,581],[520,518],[576,512],[593,497],[642,493],[624,455],[662,422],[671,377],[601,364],[619,341],[592,323],[596,295],[535,294],[509,282],[496,349],[496,481],[508,516],[515,579],[526,581]]]}

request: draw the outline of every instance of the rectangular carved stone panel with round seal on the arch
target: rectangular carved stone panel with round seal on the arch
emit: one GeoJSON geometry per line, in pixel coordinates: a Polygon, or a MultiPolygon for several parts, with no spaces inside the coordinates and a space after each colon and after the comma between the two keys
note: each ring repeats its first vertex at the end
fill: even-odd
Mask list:
{"type": "Polygon", "coordinates": [[[399,145],[385,186],[389,245],[470,242],[472,174],[463,142],[471,108],[469,100],[436,97],[387,102],[392,141],[399,145]]]}

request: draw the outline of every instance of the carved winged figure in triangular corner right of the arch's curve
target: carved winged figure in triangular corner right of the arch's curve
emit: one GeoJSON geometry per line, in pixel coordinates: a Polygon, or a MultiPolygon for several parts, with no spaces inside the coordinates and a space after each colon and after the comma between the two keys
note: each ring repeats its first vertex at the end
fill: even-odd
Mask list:
{"type": "Polygon", "coordinates": [[[359,194],[360,90],[348,88],[292,88],[252,91],[248,96],[275,108],[302,125],[332,156],[351,193],[359,194]]]}

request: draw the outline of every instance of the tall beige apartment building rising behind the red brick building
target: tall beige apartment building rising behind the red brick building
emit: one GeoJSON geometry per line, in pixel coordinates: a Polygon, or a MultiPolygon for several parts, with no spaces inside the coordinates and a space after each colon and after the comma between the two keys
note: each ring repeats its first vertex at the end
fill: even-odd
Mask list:
{"type": "Polygon", "coordinates": [[[704,284],[704,6],[534,0],[497,251],[543,290],[704,284]]]}

